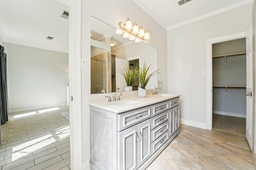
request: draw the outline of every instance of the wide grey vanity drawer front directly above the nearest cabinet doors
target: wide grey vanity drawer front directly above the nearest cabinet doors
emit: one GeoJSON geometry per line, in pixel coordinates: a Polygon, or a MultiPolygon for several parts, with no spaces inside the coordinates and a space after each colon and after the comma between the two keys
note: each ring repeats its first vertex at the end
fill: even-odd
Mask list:
{"type": "Polygon", "coordinates": [[[151,106],[142,107],[140,109],[128,111],[118,115],[118,131],[122,131],[127,127],[138,124],[151,117],[151,106]]]}

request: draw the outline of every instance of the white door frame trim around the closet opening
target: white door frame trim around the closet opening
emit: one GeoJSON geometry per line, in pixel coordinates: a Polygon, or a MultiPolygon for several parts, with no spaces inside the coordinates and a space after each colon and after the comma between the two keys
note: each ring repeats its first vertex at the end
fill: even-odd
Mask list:
{"type": "Polygon", "coordinates": [[[245,38],[248,31],[206,40],[206,129],[212,130],[212,44],[245,38]]]}

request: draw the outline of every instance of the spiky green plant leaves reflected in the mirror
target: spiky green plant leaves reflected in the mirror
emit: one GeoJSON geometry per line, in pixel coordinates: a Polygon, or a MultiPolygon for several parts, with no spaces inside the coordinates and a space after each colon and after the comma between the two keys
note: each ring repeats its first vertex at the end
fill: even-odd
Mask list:
{"type": "MultiPolygon", "coordinates": [[[[130,66],[130,68],[132,67],[130,66]]],[[[134,69],[130,70],[130,68],[126,66],[126,68],[123,67],[123,69],[118,70],[118,72],[122,74],[122,76],[124,76],[127,86],[132,86],[132,84],[138,77],[134,69]]]]}

